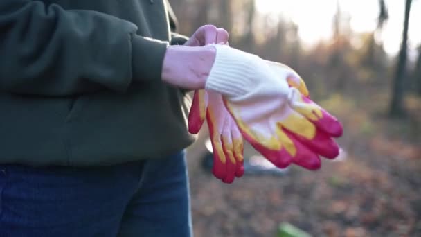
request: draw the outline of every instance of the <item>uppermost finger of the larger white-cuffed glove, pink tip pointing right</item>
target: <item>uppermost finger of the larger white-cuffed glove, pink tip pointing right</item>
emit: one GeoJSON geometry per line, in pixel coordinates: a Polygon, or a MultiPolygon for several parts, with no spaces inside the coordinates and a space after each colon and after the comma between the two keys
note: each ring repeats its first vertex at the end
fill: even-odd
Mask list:
{"type": "Polygon", "coordinates": [[[292,107],[296,112],[302,114],[312,121],[317,128],[326,132],[331,137],[341,137],[343,127],[341,123],[322,107],[314,103],[310,98],[297,95],[292,102],[292,107]]]}

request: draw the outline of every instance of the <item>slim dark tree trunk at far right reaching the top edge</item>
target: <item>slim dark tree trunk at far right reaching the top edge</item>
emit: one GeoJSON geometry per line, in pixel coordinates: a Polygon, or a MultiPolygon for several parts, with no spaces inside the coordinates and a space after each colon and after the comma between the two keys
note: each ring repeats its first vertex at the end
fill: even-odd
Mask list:
{"type": "Polygon", "coordinates": [[[408,25],[409,12],[411,10],[411,0],[406,0],[405,3],[405,20],[404,32],[402,37],[402,45],[399,52],[399,60],[395,71],[395,78],[393,81],[392,100],[389,110],[390,116],[403,116],[404,113],[404,80],[406,76],[406,51],[408,49],[408,25]]]}

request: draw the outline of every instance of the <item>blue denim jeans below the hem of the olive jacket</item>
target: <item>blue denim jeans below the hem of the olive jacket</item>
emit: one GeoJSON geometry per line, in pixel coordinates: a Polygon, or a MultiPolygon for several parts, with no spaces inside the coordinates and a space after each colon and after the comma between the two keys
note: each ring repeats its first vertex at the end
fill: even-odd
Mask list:
{"type": "Polygon", "coordinates": [[[191,236],[184,152],[109,167],[0,164],[0,236],[191,236]]]}

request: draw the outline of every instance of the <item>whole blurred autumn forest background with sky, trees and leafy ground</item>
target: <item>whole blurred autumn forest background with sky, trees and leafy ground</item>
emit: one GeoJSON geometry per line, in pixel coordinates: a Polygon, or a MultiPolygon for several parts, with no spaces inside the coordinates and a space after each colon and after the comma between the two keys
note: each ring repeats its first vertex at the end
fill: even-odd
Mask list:
{"type": "Polygon", "coordinates": [[[343,153],[321,170],[233,184],[204,169],[204,126],[188,149],[195,236],[282,236],[283,222],[312,236],[421,236],[420,0],[170,3],[180,33],[215,24],[231,46],[296,69],[344,126],[343,153]]]}

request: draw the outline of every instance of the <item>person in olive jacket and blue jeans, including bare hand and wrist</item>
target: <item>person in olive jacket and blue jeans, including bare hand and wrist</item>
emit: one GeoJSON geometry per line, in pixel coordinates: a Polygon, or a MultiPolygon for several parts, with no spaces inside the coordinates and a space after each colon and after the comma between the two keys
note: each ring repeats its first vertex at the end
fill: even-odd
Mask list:
{"type": "Polygon", "coordinates": [[[215,60],[168,1],[0,1],[0,236],[191,236],[183,89],[215,60]]]}

